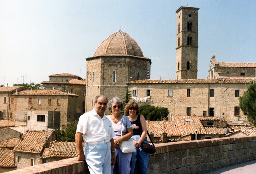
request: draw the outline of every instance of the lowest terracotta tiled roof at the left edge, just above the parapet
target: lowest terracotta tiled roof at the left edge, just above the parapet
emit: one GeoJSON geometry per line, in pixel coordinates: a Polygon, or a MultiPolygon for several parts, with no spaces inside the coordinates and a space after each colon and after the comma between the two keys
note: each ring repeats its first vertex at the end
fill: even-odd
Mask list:
{"type": "Polygon", "coordinates": [[[15,167],[14,158],[12,150],[0,148],[0,167],[15,167]]]}

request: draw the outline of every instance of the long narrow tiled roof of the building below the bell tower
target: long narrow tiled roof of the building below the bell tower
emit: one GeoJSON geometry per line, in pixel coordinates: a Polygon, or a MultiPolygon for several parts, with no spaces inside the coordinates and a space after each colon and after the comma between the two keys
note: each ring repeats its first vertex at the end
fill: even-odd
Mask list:
{"type": "Polygon", "coordinates": [[[250,83],[253,78],[246,78],[246,79],[169,79],[169,80],[137,80],[127,82],[127,84],[167,84],[167,83],[250,83]]]}

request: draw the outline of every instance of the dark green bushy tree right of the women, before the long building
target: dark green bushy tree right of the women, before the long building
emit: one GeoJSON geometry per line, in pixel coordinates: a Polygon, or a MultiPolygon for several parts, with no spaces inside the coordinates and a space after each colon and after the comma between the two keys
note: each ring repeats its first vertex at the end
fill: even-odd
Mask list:
{"type": "Polygon", "coordinates": [[[142,105],[140,109],[141,111],[139,113],[144,115],[146,120],[150,121],[160,121],[161,117],[166,118],[169,114],[169,111],[164,107],[142,105]]]}

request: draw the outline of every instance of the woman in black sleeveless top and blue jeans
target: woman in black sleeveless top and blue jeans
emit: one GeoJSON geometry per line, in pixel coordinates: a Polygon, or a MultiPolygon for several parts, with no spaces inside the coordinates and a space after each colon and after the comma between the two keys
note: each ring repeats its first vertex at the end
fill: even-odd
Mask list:
{"type": "Polygon", "coordinates": [[[138,160],[138,173],[147,174],[148,173],[148,153],[142,150],[142,142],[147,143],[147,125],[146,120],[143,115],[139,114],[139,106],[137,103],[130,101],[125,106],[125,114],[128,115],[133,130],[133,143],[136,152],[132,153],[131,159],[131,172],[134,173],[134,168],[136,160],[138,160]]]}

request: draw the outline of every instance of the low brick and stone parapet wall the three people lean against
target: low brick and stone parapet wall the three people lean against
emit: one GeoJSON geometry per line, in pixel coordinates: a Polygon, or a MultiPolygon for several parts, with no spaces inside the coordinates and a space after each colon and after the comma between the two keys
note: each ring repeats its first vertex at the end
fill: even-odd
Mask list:
{"type": "MultiPolygon", "coordinates": [[[[149,156],[149,173],[199,173],[256,159],[256,136],[157,144],[149,156]]],[[[77,157],[14,170],[9,173],[89,173],[77,157]]]]}

